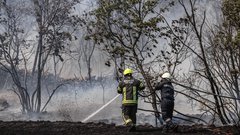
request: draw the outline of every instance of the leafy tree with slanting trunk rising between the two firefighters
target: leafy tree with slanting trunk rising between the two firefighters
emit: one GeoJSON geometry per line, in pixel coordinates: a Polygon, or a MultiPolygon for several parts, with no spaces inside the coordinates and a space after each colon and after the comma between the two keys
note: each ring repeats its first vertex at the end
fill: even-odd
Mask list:
{"type": "MultiPolygon", "coordinates": [[[[110,54],[117,73],[130,67],[143,77],[148,88],[145,94],[156,117],[159,117],[159,98],[155,94],[153,82],[156,81],[154,76],[159,76],[159,71],[155,74],[156,69],[153,67],[157,66],[161,70],[164,64],[159,61],[166,54],[165,50],[162,53],[157,51],[158,47],[162,47],[159,45],[160,37],[167,33],[166,27],[162,25],[164,19],[161,14],[174,5],[173,2],[160,3],[158,0],[101,0],[98,1],[99,6],[90,13],[94,18],[86,21],[90,33],[86,39],[94,40],[110,54]]],[[[173,43],[173,40],[170,42],[173,43]]],[[[168,54],[164,58],[170,62],[168,54]]],[[[171,69],[171,65],[176,63],[167,63],[165,66],[171,69]]]]}

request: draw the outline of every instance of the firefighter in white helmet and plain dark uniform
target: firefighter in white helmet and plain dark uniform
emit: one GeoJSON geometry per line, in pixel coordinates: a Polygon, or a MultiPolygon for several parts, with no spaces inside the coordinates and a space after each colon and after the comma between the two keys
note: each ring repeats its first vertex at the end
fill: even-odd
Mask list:
{"type": "Polygon", "coordinates": [[[155,86],[155,90],[160,90],[161,93],[162,118],[165,122],[163,132],[167,132],[168,130],[174,130],[177,128],[177,125],[172,122],[174,109],[174,87],[171,82],[170,73],[164,73],[161,78],[161,81],[155,86]]]}

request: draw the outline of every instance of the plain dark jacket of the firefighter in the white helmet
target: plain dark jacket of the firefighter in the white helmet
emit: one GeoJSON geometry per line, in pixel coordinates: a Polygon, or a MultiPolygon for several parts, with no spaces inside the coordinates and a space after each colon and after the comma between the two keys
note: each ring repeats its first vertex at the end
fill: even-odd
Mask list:
{"type": "Polygon", "coordinates": [[[162,79],[157,85],[155,86],[155,90],[161,90],[161,98],[174,100],[174,87],[170,80],[162,79]]]}

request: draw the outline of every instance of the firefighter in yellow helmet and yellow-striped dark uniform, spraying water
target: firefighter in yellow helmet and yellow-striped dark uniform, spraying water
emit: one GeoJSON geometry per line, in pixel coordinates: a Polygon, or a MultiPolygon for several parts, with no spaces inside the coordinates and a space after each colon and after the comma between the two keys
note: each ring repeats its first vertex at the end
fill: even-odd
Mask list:
{"type": "Polygon", "coordinates": [[[124,70],[123,81],[118,85],[117,92],[122,94],[122,117],[125,125],[131,126],[129,131],[135,131],[138,92],[145,88],[144,84],[132,76],[132,70],[124,70]]]}

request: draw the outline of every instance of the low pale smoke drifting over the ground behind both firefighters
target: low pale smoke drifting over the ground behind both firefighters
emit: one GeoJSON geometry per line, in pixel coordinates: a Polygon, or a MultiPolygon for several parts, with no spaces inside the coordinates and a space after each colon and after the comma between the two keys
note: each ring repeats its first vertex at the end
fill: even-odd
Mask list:
{"type": "MultiPolygon", "coordinates": [[[[21,114],[21,107],[16,94],[11,90],[2,90],[0,99],[5,98],[10,107],[0,113],[0,119],[3,121],[12,120],[47,120],[47,121],[82,121],[94,113],[105,103],[117,95],[117,82],[110,78],[104,81],[72,81],[70,84],[59,89],[52,100],[49,102],[46,110],[42,114],[21,114]],[[104,89],[103,87],[104,86],[104,89]]],[[[42,97],[43,104],[47,101],[48,94],[44,93],[42,97]]],[[[187,104],[185,98],[177,95],[175,109],[184,114],[197,114],[197,110],[187,104]]],[[[139,108],[152,110],[150,104],[139,98],[139,108]]],[[[105,122],[123,124],[121,118],[121,96],[114,100],[99,113],[91,117],[87,122],[105,122]]],[[[175,114],[176,115],[176,114],[175,114]]],[[[155,125],[153,113],[138,111],[137,124],[155,125]]]]}

